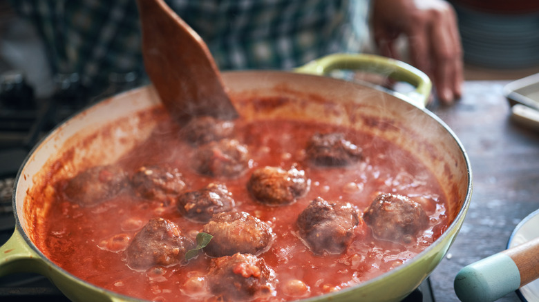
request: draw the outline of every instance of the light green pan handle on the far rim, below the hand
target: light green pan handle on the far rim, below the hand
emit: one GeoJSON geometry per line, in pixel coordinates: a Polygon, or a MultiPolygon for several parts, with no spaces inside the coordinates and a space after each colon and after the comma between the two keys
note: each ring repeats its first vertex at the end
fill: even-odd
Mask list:
{"type": "Polygon", "coordinates": [[[402,61],[375,54],[329,54],[310,61],[294,71],[324,75],[332,70],[361,70],[380,74],[395,81],[410,83],[415,90],[405,95],[410,103],[419,108],[425,108],[431,95],[432,83],[424,72],[402,61]]]}

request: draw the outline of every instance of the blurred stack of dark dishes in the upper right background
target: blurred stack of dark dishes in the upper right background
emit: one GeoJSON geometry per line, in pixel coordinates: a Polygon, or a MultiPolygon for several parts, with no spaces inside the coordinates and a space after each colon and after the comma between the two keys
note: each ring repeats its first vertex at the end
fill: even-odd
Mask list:
{"type": "Polygon", "coordinates": [[[520,79],[539,72],[539,1],[451,0],[466,79],[520,79]]]}

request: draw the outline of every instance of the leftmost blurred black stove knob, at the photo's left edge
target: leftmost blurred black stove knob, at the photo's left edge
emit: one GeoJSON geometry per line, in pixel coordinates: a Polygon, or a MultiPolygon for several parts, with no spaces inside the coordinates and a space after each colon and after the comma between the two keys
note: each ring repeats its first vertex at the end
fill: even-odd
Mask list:
{"type": "Polygon", "coordinates": [[[35,110],[34,89],[23,72],[10,70],[0,75],[0,103],[3,108],[35,110]]]}

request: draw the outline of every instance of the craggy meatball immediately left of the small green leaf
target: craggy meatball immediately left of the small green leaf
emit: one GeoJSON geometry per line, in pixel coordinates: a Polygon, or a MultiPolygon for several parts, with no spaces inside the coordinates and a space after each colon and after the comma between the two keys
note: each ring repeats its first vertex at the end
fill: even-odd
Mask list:
{"type": "Polygon", "coordinates": [[[182,262],[193,245],[193,240],[182,234],[176,223],[151,219],[127,245],[127,264],[134,270],[175,265],[182,262]]]}

